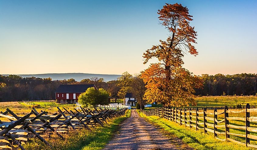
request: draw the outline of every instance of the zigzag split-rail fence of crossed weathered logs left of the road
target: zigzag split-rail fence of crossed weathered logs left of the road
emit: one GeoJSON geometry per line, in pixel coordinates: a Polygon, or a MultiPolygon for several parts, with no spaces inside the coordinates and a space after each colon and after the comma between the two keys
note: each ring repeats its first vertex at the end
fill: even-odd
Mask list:
{"type": "Polygon", "coordinates": [[[97,125],[103,126],[112,117],[120,116],[125,113],[126,109],[109,110],[108,108],[99,108],[90,110],[80,107],[80,110],[74,109],[68,111],[65,108],[58,113],[48,115],[45,111],[38,112],[32,108],[31,112],[23,117],[17,116],[8,108],[5,112],[0,113],[0,148],[24,150],[22,144],[29,141],[29,138],[39,138],[46,145],[51,146],[42,134],[57,134],[64,139],[62,134],[68,133],[69,130],[86,128],[92,130],[97,125]],[[8,121],[3,121],[8,120],[8,121]]]}

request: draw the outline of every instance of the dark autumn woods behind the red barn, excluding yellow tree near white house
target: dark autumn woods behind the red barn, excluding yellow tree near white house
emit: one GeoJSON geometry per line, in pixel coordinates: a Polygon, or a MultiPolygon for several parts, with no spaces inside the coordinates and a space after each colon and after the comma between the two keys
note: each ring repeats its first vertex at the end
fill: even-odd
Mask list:
{"type": "MultiPolygon", "coordinates": [[[[103,78],[52,80],[51,78],[22,78],[18,75],[0,75],[0,101],[49,100],[55,99],[55,91],[61,84],[95,84],[97,88],[117,93],[117,81],[104,82],[103,78]]],[[[111,95],[110,94],[110,95],[111,95]]]]}

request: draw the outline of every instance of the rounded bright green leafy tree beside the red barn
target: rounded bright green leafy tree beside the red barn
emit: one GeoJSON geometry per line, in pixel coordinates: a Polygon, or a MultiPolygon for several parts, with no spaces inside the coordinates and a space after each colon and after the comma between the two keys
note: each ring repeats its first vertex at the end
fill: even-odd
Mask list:
{"type": "Polygon", "coordinates": [[[108,103],[107,99],[109,92],[105,89],[88,88],[85,92],[78,96],[78,102],[84,106],[105,105],[108,103]]]}

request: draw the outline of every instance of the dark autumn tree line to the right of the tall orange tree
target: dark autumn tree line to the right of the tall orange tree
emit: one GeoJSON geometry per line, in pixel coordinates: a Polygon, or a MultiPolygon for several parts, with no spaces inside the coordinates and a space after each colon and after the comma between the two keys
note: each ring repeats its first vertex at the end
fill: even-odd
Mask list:
{"type": "Polygon", "coordinates": [[[208,75],[200,77],[203,88],[195,89],[196,95],[222,96],[222,95],[257,95],[257,74],[235,74],[235,75],[208,75]]]}

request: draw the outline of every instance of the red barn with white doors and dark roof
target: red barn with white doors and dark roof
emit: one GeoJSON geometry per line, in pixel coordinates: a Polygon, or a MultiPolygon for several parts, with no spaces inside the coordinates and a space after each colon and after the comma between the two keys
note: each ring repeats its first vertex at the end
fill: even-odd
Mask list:
{"type": "Polygon", "coordinates": [[[57,103],[76,103],[78,96],[91,87],[96,89],[94,84],[59,85],[55,92],[55,99],[57,99],[57,103]]]}

